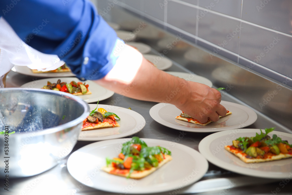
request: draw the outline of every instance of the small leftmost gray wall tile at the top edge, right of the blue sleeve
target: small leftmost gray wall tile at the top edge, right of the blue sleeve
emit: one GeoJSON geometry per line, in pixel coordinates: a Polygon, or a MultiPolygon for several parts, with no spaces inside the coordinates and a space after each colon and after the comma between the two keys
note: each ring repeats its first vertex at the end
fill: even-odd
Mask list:
{"type": "Polygon", "coordinates": [[[144,13],[151,15],[161,21],[164,21],[164,0],[146,0],[144,1],[144,13]]]}

